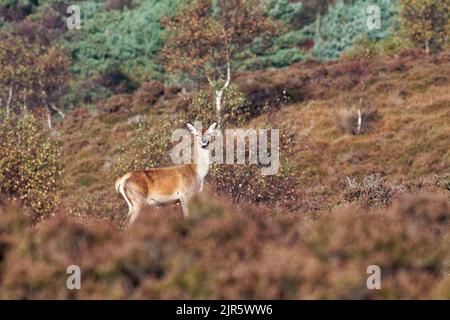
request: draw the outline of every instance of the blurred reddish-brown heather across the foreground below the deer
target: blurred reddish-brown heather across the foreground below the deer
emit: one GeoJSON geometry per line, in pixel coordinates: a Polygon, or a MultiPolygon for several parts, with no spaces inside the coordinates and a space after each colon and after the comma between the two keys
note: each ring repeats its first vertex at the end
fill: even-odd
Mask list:
{"type": "Polygon", "coordinates": [[[449,203],[427,197],[376,214],[333,210],[314,222],[205,198],[200,219],[161,209],[126,234],[62,214],[36,230],[20,208],[0,208],[0,298],[448,299],[449,233],[434,232],[442,219],[418,222],[436,209],[448,221],[449,203]],[[421,217],[405,218],[411,206],[421,217]],[[73,261],[82,290],[65,286],[73,261]],[[366,286],[372,264],[382,270],[381,290],[366,286]]]}

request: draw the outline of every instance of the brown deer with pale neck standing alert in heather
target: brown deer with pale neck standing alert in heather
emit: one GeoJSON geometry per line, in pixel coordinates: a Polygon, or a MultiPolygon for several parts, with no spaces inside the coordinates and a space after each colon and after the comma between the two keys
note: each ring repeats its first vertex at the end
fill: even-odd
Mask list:
{"type": "Polygon", "coordinates": [[[184,217],[189,216],[188,202],[203,191],[210,165],[208,145],[217,134],[217,122],[207,130],[197,130],[187,123],[194,136],[194,163],[128,172],[115,182],[116,191],[128,205],[127,226],[131,226],[145,205],[158,206],[179,201],[184,217]]]}

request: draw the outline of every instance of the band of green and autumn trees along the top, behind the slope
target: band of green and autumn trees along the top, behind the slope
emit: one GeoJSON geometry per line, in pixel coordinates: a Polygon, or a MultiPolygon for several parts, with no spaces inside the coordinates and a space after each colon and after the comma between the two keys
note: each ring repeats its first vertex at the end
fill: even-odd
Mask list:
{"type": "MultiPolygon", "coordinates": [[[[211,12],[208,14],[211,17],[220,14],[223,8],[230,7],[229,2],[226,2],[228,4],[225,7],[221,1],[205,3],[209,2],[208,10],[211,12]]],[[[20,36],[33,34],[33,37],[45,38],[41,40],[48,44],[63,45],[70,52],[73,60],[70,70],[75,75],[64,102],[69,105],[92,104],[111,94],[131,92],[139,83],[150,79],[174,81],[167,72],[173,71],[174,64],[166,62],[178,60],[182,63],[182,52],[168,50],[161,55],[161,50],[167,47],[168,42],[168,47],[171,47],[170,41],[177,41],[175,38],[170,40],[170,26],[165,25],[164,21],[177,12],[179,17],[184,15],[186,21],[194,21],[191,14],[195,13],[195,2],[186,4],[187,7],[183,9],[183,2],[175,0],[83,1],[79,4],[81,30],[69,31],[65,26],[67,5],[64,1],[4,0],[0,3],[0,29],[20,36]],[[180,14],[179,10],[188,11],[180,14]],[[177,59],[172,54],[178,56],[177,59]],[[166,66],[170,67],[169,70],[166,66]]],[[[263,22],[268,18],[277,21],[278,35],[267,39],[259,37],[257,32],[238,32],[239,42],[248,45],[240,47],[239,54],[234,57],[236,69],[285,67],[310,58],[335,59],[355,45],[361,48],[356,50],[359,53],[379,53],[413,45],[426,50],[438,50],[448,44],[450,19],[446,1],[265,0],[262,4],[263,15],[259,20],[263,22]],[[367,27],[369,5],[380,8],[379,30],[369,30],[367,27]],[[243,35],[249,39],[243,39],[243,35]],[[388,43],[377,45],[380,40],[391,38],[388,43]],[[403,41],[405,39],[410,42],[403,41]]],[[[236,5],[233,4],[233,7],[236,5]]],[[[242,8],[236,13],[245,15],[242,8]]],[[[248,19],[247,22],[250,23],[248,19]]],[[[216,27],[217,23],[215,27],[211,24],[204,30],[220,40],[222,32],[215,32],[216,27]]],[[[175,35],[181,38],[189,36],[197,44],[200,44],[200,39],[208,39],[207,34],[189,34],[186,28],[179,31],[175,35]]],[[[209,38],[210,47],[217,50],[215,53],[202,50],[206,56],[219,54],[219,49],[223,47],[223,41],[212,40],[209,38]]],[[[189,48],[187,53],[195,52],[192,46],[189,48]]],[[[183,62],[185,66],[197,65],[192,55],[188,60],[189,63],[183,62]]],[[[175,69],[180,69],[180,66],[175,69]]],[[[5,95],[7,91],[2,89],[1,94],[5,95]]],[[[5,100],[4,97],[2,99],[5,100]]]]}

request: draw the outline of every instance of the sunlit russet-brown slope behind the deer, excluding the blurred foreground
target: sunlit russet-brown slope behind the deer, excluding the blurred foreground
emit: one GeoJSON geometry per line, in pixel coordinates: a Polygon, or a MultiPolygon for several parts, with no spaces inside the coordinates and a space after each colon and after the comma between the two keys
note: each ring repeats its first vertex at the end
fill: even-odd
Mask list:
{"type": "MultiPolygon", "coordinates": [[[[297,182],[292,197],[298,203],[291,207],[301,213],[311,206],[317,211],[339,204],[346,177],[378,173],[406,188],[447,186],[449,74],[448,52],[427,58],[406,51],[387,61],[307,61],[286,70],[244,73],[236,82],[255,114],[245,126],[289,128],[281,157],[297,182]],[[281,96],[287,98],[280,103],[281,96]],[[359,135],[358,108],[363,113],[359,135]]],[[[172,123],[175,129],[195,119],[183,111],[189,108],[189,95],[172,91],[162,89],[152,104],[138,107],[136,94],[116,96],[97,111],[77,110],[70,116],[62,132],[72,195],[112,186],[110,168],[121,152],[118,147],[127,144],[137,122],[172,123]]],[[[169,147],[167,141],[166,153],[169,147]]]]}

